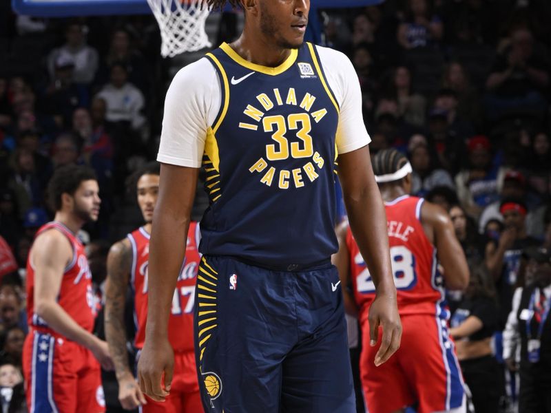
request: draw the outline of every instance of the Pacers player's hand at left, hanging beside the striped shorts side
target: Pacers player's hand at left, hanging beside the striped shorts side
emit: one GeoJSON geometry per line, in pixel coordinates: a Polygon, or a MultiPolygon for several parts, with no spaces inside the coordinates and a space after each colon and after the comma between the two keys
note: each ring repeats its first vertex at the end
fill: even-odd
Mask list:
{"type": "Polygon", "coordinates": [[[168,337],[155,337],[153,340],[147,337],[138,361],[141,391],[154,401],[165,401],[170,392],[173,373],[174,351],[168,337]]]}

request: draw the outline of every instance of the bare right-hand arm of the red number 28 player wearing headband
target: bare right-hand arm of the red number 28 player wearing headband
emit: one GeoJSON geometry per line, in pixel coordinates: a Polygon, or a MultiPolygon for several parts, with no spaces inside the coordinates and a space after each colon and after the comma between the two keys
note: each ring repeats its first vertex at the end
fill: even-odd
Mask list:
{"type": "Polygon", "coordinates": [[[464,290],[469,284],[469,268],[449,215],[441,207],[423,202],[421,221],[428,239],[437,248],[439,263],[444,267],[446,287],[464,290]]]}

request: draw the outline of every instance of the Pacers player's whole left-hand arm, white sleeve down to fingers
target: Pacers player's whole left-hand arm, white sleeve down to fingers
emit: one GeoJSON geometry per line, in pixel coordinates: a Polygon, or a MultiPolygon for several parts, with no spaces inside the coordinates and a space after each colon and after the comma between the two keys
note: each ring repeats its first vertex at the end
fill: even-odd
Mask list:
{"type": "Polygon", "coordinates": [[[216,70],[203,58],[174,76],[165,98],[157,156],[161,162],[159,192],[149,242],[147,326],[138,361],[140,388],[156,401],[164,400],[170,390],[174,352],[168,341],[168,319],[185,257],[207,129],[220,111],[220,90],[216,70]]]}

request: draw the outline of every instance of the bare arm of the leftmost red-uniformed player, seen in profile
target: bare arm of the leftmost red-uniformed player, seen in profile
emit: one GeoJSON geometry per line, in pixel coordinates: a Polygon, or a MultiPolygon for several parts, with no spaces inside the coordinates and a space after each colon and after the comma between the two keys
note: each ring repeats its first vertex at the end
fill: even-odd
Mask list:
{"type": "Polygon", "coordinates": [[[65,266],[72,260],[72,254],[67,237],[54,229],[34,241],[31,251],[35,268],[34,311],[50,328],[91,350],[105,370],[112,370],[107,343],[79,326],[57,303],[65,266]]]}

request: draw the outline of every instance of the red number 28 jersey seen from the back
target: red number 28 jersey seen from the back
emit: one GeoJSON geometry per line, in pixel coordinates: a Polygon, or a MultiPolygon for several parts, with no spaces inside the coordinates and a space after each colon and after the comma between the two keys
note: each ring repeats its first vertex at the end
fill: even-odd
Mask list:
{"type": "MultiPolygon", "coordinates": [[[[444,290],[437,271],[436,248],[426,237],[420,221],[423,202],[421,198],[408,195],[385,202],[398,310],[400,315],[437,315],[447,319],[444,290]]],[[[367,319],[369,306],[375,299],[375,284],[350,227],[346,233],[346,245],[360,319],[367,319]]]]}

